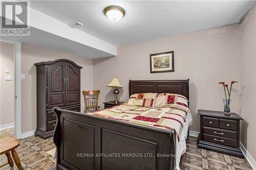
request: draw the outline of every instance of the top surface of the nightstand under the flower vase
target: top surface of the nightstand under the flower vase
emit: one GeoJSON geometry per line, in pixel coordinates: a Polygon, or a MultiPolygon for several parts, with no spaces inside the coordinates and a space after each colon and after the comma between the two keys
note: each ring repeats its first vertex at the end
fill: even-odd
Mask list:
{"type": "Polygon", "coordinates": [[[227,118],[227,119],[240,119],[243,120],[237,113],[225,114],[221,111],[212,111],[212,110],[198,110],[199,115],[210,116],[210,117],[219,117],[219,118],[227,118]]]}

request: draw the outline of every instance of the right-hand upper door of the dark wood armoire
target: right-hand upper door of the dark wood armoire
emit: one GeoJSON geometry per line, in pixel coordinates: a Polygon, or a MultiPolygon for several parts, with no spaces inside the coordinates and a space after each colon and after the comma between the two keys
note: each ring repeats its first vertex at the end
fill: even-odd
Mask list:
{"type": "Polygon", "coordinates": [[[72,64],[66,64],[66,104],[80,104],[80,69],[72,64]]]}

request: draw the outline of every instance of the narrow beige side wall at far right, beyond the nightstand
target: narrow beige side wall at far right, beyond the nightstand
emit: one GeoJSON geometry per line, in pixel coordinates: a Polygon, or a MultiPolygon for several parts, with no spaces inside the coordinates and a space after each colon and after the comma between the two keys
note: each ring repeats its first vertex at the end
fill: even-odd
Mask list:
{"type": "Polygon", "coordinates": [[[256,5],[241,24],[241,141],[256,160],[256,5]]]}

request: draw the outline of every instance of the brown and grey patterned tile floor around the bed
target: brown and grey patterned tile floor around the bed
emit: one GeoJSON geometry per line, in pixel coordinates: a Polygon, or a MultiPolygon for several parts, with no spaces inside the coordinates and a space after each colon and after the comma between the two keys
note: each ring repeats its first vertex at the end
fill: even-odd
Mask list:
{"type": "MultiPolygon", "coordinates": [[[[13,128],[0,131],[0,137],[5,135],[13,136],[13,128]]],[[[20,139],[20,145],[16,149],[24,169],[27,170],[53,170],[55,169],[55,159],[49,151],[55,148],[52,138],[41,139],[38,136],[30,136],[20,139]],[[48,153],[47,153],[48,152],[48,153]]],[[[6,156],[1,155],[0,162],[7,162],[6,156]]],[[[0,168],[10,169],[10,166],[0,168]]],[[[14,166],[16,170],[17,167],[14,166]]],[[[187,151],[184,169],[251,169],[246,159],[236,158],[228,155],[218,154],[197,148],[197,139],[190,137],[187,140],[187,151]]],[[[142,170],[142,169],[141,169],[142,170]]]]}

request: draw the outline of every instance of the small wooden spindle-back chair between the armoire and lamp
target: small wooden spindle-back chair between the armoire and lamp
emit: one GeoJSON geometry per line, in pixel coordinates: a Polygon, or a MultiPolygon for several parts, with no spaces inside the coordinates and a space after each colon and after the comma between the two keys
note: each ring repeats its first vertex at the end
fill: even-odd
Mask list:
{"type": "Polygon", "coordinates": [[[83,98],[84,98],[84,106],[86,107],[86,113],[91,110],[95,109],[96,111],[99,110],[100,106],[98,106],[98,99],[99,99],[99,90],[97,91],[82,91],[83,98]],[[87,98],[88,95],[91,95],[91,98],[87,98]]]}

